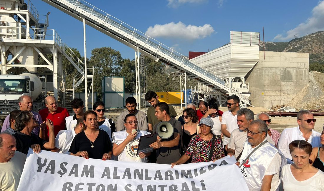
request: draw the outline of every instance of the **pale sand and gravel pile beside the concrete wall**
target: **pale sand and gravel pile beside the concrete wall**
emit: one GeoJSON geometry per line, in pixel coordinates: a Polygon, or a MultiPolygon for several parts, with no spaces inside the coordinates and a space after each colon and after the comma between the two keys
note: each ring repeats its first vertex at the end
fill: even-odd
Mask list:
{"type": "Polygon", "coordinates": [[[308,85],[287,106],[291,106],[297,111],[324,109],[324,73],[311,71],[308,80],[308,85]]]}

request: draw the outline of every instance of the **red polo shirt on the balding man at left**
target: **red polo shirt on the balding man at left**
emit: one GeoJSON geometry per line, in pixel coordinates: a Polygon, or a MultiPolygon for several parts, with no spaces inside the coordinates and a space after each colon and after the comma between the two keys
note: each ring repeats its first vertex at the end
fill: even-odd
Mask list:
{"type": "MultiPolygon", "coordinates": [[[[41,115],[43,121],[45,121],[46,119],[50,119],[53,122],[55,137],[57,133],[59,133],[59,131],[65,129],[65,117],[70,116],[67,109],[62,107],[58,107],[56,112],[54,112],[53,114],[48,111],[48,108],[42,109],[38,113],[41,115]]],[[[50,132],[48,131],[47,127],[47,137],[49,136],[50,132]]]]}

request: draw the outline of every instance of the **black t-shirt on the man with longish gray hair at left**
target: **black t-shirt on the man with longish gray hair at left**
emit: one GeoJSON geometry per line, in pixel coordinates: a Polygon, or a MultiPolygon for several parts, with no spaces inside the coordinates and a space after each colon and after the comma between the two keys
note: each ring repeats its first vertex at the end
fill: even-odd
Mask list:
{"type": "Polygon", "coordinates": [[[28,154],[28,149],[33,144],[39,144],[39,145],[41,145],[41,148],[43,148],[43,145],[45,143],[47,143],[47,141],[41,139],[37,135],[31,134],[31,136],[29,136],[29,135],[27,135],[25,133],[21,133],[19,131],[17,133],[13,134],[12,136],[14,136],[16,139],[17,151],[24,153],[24,154],[28,154]]]}

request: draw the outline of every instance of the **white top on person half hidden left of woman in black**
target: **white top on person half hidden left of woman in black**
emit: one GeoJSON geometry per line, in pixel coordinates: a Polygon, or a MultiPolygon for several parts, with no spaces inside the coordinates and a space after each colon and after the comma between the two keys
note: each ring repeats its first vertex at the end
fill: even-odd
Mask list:
{"type": "Polygon", "coordinates": [[[69,149],[75,135],[76,133],[74,128],[73,130],[61,130],[57,133],[55,138],[55,147],[60,149],[59,153],[70,154],[69,149]]]}

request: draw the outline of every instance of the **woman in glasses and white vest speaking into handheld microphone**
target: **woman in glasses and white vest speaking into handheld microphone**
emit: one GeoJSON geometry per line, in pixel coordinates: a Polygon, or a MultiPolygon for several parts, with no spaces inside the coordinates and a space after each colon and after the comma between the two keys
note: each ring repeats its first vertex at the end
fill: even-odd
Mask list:
{"type": "Polygon", "coordinates": [[[125,131],[118,131],[112,133],[112,151],[114,156],[118,156],[119,161],[128,162],[147,162],[147,156],[150,153],[137,153],[139,138],[143,135],[150,134],[146,131],[140,131],[137,129],[138,121],[133,113],[129,113],[125,116],[124,125],[125,131]]]}

